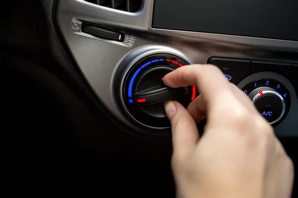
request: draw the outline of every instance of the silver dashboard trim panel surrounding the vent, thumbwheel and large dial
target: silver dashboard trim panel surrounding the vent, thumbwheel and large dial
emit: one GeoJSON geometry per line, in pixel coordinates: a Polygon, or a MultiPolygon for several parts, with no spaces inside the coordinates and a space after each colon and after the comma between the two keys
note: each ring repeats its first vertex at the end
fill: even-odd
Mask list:
{"type": "MultiPolygon", "coordinates": [[[[211,56],[298,63],[298,42],[151,28],[154,0],[144,0],[140,12],[119,11],[84,0],[59,0],[59,30],[81,73],[114,117],[136,130],[115,101],[115,74],[123,60],[138,49],[165,46],[177,49],[193,62],[211,56]],[[132,45],[109,42],[71,29],[72,21],[97,24],[135,38],[132,45]],[[292,52],[284,54],[284,52],[292,52]],[[291,55],[292,54],[292,55],[291,55]]],[[[297,127],[298,128],[298,127],[297,127]]]]}

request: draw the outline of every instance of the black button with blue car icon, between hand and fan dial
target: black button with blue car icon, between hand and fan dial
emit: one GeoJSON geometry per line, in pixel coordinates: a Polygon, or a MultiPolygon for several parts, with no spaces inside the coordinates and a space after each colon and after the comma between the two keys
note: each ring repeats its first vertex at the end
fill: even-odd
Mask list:
{"type": "Polygon", "coordinates": [[[208,63],[218,66],[224,77],[236,85],[249,75],[250,60],[212,57],[208,63]]]}

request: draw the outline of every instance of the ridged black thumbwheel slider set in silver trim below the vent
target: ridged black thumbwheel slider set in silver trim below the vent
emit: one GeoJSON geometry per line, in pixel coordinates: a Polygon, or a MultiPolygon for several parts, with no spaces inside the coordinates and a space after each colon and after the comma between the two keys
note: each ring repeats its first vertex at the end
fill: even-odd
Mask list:
{"type": "Polygon", "coordinates": [[[99,37],[102,39],[108,39],[112,41],[122,42],[124,40],[124,34],[118,32],[112,32],[110,30],[105,30],[95,26],[84,24],[82,26],[82,32],[92,35],[94,37],[99,37]]]}

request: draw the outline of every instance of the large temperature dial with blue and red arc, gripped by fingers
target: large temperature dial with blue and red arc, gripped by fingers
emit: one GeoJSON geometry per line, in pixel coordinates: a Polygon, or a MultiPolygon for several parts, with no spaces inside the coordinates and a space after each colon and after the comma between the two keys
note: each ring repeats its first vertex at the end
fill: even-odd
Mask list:
{"type": "Polygon", "coordinates": [[[184,107],[195,99],[192,86],[170,88],[162,78],[175,69],[188,65],[182,58],[170,54],[155,54],[132,66],[123,83],[123,101],[129,115],[139,123],[155,129],[169,128],[170,122],[163,103],[176,100],[184,107]]]}

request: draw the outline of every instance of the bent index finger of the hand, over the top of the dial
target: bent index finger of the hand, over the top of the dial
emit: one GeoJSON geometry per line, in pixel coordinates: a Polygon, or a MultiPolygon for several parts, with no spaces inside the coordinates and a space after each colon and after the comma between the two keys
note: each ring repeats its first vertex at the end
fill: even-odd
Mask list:
{"type": "Polygon", "coordinates": [[[224,78],[223,72],[214,65],[183,66],[165,75],[163,82],[172,88],[196,86],[207,105],[221,102],[219,98],[223,99],[223,95],[225,99],[232,98],[229,82],[224,78]]]}

